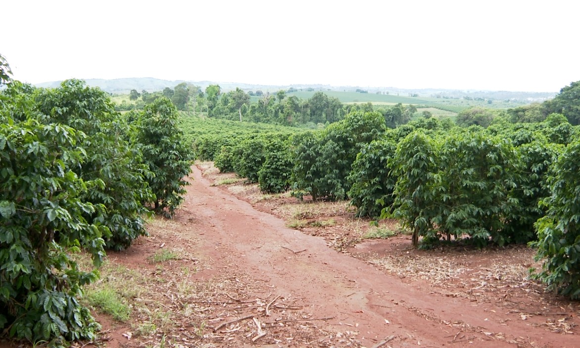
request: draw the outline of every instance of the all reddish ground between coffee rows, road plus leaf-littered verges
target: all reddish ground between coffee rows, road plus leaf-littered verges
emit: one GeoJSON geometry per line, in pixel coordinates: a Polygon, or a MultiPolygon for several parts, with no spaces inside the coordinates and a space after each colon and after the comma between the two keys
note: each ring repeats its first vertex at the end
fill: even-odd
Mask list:
{"type": "Polygon", "coordinates": [[[197,165],[176,217],[110,253],[95,285],[131,318],[97,311],[99,340],[77,347],[578,346],[578,303],[528,279],[530,248],[414,250],[394,221],[375,228],[347,203],[262,195],[197,165]]]}

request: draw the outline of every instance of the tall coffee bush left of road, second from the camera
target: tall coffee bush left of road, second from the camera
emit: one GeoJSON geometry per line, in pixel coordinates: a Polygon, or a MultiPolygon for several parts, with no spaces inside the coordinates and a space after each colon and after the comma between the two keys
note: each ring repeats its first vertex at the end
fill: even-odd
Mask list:
{"type": "Polygon", "coordinates": [[[82,199],[105,207],[86,218],[111,230],[105,236],[107,248],[122,250],[146,235],[142,215],[147,210],[142,202],[153,197],[145,179],[150,173],[135,142],[134,127],[114,110],[108,95],[81,80],[66,80],[57,89],[35,91],[34,100],[43,122],[67,124],[87,135],[80,144],[86,158],[75,173],[85,181],[100,182],[82,199]]]}

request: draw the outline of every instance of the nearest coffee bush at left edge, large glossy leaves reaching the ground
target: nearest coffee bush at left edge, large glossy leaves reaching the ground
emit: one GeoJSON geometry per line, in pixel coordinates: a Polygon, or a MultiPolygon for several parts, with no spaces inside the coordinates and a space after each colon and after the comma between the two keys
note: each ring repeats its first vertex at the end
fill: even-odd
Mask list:
{"type": "Polygon", "coordinates": [[[83,247],[98,265],[110,232],[84,218],[98,207],[82,197],[100,185],[74,173],[86,158],[78,146],[84,135],[39,123],[29,106],[20,122],[0,108],[0,331],[65,346],[94,339],[98,328],[78,303],[81,286],[97,274],[79,270],[70,254],[83,247]]]}

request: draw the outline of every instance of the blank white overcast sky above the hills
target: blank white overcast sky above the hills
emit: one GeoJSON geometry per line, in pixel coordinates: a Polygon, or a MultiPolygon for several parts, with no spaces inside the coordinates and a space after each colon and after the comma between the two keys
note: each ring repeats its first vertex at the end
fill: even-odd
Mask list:
{"type": "Polygon", "coordinates": [[[580,2],[26,1],[0,5],[14,78],[559,91],[580,2]]]}

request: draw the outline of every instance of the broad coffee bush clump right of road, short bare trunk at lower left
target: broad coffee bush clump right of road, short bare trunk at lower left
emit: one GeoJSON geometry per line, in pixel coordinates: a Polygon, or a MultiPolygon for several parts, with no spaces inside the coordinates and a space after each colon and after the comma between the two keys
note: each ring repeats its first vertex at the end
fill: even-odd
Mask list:
{"type": "MultiPolygon", "coordinates": [[[[397,177],[393,215],[413,229],[415,245],[421,236],[426,246],[451,236],[478,246],[530,239],[521,214],[537,212],[523,198],[538,196],[521,190],[539,184],[523,179],[509,140],[478,127],[435,138],[415,131],[389,163],[397,177]]],[[[534,168],[541,180],[542,168],[534,168]]]]}

